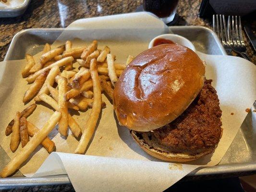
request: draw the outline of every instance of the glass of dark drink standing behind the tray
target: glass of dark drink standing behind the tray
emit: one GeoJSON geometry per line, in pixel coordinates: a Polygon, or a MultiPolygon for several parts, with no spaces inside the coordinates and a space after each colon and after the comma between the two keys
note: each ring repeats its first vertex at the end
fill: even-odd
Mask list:
{"type": "Polygon", "coordinates": [[[179,0],[143,0],[143,8],[146,12],[157,15],[164,23],[170,23],[176,12],[179,0]]]}

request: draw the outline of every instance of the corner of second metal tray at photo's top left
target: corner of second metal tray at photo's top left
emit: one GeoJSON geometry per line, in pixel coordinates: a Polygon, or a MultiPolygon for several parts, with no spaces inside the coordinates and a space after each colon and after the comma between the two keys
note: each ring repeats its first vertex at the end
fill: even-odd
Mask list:
{"type": "Polygon", "coordinates": [[[0,18],[1,17],[17,17],[22,15],[29,4],[30,0],[24,0],[24,3],[21,6],[13,8],[0,8],[0,18]]]}

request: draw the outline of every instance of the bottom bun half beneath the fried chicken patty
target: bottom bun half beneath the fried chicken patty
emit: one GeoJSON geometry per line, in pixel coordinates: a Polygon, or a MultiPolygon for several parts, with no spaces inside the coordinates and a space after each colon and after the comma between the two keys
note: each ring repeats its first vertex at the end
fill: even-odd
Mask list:
{"type": "MultiPolygon", "coordinates": [[[[158,159],[164,160],[164,161],[174,161],[174,162],[187,162],[187,161],[193,161],[195,159],[198,159],[202,156],[206,156],[217,147],[217,145],[214,148],[210,148],[204,152],[198,153],[198,154],[188,154],[188,153],[177,153],[177,152],[170,152],[166,151],[165,149],[161,150],[156,149],[149,144],[146,143],[145,139],[143,137],[138,137],[136,135],[135,131],[131,131],[131,135],[134,138],[135,142],[139,144],[139,146],[150,156],[154,156],[158,159]]],[[[222,135],[222,129],[221,129],[221,135],[222,135]]],[[[221,138],[221,136],[220,136],[221,138]]]]}

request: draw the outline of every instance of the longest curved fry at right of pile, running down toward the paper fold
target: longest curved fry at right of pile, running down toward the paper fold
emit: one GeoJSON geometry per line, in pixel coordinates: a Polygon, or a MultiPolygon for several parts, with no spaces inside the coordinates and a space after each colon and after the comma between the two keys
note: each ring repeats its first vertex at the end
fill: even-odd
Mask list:
{"type": "Polygon", "coordinates": [[[98,121],[99,113],[101,110],[101,89],[100,89],[99,76],[97,72],[96,59],[91,60],[90,73],[91,73],[91,78],[93,82],[93,92],[94,92],[93,107],[92,107],[92,111],[89,116],[89,119],[86,121],[85,130],[81,136],[79,144],[75,149],[76,154],[85,153],[85,149],[94,133],[94,130],[98,121]]]}

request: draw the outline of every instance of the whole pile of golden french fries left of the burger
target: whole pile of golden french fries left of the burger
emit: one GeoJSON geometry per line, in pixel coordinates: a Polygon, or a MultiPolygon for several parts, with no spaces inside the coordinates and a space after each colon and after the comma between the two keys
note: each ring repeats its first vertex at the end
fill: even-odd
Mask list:
{"type": "Polygon", "coordinates": [[[41,129],[27,120],[37,108],[36,103],[16,113],[5,134],[11,134],[10,148],[13,153],[20,143],[22,149],[3,168],[0,177],[13,174],[39,144],[49,153],[54,151],[55,144],[47,135],[57,123],[62,136],[67,137],[70,128],[79,140],[74,153],[84,154],[95,131],[100,111],[106,106],[102,101],[102,92],[110,100],[113,99],[113,88],[118,77],[134,57],[129,55],[125,64],[114,63],[115,56],[110,53],[110,48],[105,46],[100,50],[98,41],[94,40],[88,47],[76,48],[73,48],[71,41],[54,49],[47,43],[38,62],[29,54],[25,55],[25,59],[27,62],[22,76],[31,85],[24,94],[23,102],[26,104],[32,99],[41,101],[55,112],[41,129]],[[87,108],[92,110],[82,134],[70,112],[85,111],[87,108]]]}

